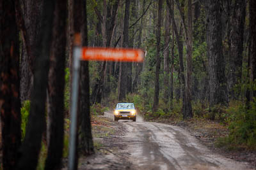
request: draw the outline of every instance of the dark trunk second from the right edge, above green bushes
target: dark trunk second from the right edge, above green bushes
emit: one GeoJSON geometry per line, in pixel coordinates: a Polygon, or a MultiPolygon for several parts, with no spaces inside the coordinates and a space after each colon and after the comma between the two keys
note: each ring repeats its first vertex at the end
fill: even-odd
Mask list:
{"type": "Polygon", "coordinates": [[[243,43],[244,43],[244,21],[245,1],[236,0],[231,17],[230,35],[230,74],[231,74],[231,97],[238,99],[241,90],[235,90],[235,85],[241,83],[243,64],[243,43]]]}

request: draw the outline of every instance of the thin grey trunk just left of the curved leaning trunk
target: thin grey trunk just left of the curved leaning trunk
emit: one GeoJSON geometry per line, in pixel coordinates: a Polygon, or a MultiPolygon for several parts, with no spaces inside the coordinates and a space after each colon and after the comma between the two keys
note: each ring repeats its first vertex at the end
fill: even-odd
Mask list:
{"type": "MultiPolygon", "coordinates": [[[[170,63],[170,11],[166,6],[164,25],[164,103],[168,103],[170,97],[170,85],[169,85],[169,63],[170,63]]],[[[167,110],[166,110],[167,111],[167,110]]]]}

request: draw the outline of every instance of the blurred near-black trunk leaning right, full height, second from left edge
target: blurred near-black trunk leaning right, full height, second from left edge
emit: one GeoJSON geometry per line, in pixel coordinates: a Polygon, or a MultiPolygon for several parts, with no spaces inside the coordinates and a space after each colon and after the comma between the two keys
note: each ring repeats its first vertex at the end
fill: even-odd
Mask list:
{"type": "Polygon", "coordinates": [[[43,5],[42,27],[35,49],[35,78],[31,92],[31,108],[17,169],[36,169],[38,162],[42,133],[45,129],[45,99],[54,4],[54,1],[44,1],[43,5]]]}

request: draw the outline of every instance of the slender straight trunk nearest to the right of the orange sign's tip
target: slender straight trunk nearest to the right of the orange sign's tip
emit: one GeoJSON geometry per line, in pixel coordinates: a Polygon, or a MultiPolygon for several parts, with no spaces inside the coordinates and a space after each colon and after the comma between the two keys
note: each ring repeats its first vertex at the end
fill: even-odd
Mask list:
{"type": "Polygon", "coordinates": [[[163,6],[163,0],[159,0],[158,1],[157,31],[156,31],[156,80],[155,80],[155,90],[154,90],[153,111],[157,111],[158,104],[159,104],[159,69],[160,69],[160,64],[161,64],[160,40],[161,40],[162,6],[163,6]]]}

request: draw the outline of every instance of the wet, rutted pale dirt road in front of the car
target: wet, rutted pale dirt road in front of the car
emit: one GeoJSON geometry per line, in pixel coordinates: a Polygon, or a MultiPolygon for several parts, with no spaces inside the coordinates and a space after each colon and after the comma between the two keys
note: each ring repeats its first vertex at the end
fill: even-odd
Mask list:
{"type": "MultiPolygon", "coordinates": [[[[106,113],[113,117],[111,113],[106,113]]],[[[129,161],[134,169],[250,169],[245,163],[212,153],[180,127],[119,120],[127,133],[122,142],[127,144],[129,161]]]]}

